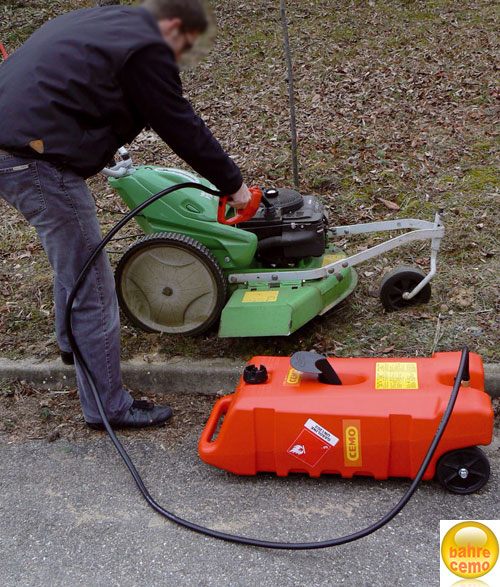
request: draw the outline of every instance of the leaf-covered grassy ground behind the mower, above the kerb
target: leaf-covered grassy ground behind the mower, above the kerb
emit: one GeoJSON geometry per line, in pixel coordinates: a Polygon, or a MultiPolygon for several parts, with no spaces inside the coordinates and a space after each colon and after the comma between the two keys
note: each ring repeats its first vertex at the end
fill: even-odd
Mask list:
{"type": "MultiPolygon", "coordinates": [[[[90,2],[7,1],[9,52],[47,18],[90,2]]],[[[187,97],[248,183],[290,186],[287,76],[279,3],[214,0],[215,48],[183,73],[187,97]]],[[[145,334],[123,319],[123,358],[241,357],[315,349],[338,356],[429,355],[469,344],[500,360],[500,5],[489,0],[320,0],[288,3],[296,77],[300,189],[320,196],[332,224],[396,217],[447,228],[431,302],[383,312],[380,276],[427,268],[424,245],[360,268],[354,294],[286,339],[221,340],[145,334]]],[[[0,66],[1,67],[1,66],[0,66]]],[[[182,164],[152,132],[131,146],[137,163],[182,164]]],[[[123,210],[100,177],[101,208],[123,210]]],[[[119,216],[99,211],[106,232],[119,216]]],[[[0,201],[0,355],[57,354],[51,271],[36,234],[0,201]]],[[[130,228],[129,234],[137,234],[130,228]]],[[[380,237],[382,238],[382,237],[380,237]]],[[[376,244],[352,244],[349,251],[376,244]]],[[[131,241],[113,243],[116,262],[131,241]]]]}

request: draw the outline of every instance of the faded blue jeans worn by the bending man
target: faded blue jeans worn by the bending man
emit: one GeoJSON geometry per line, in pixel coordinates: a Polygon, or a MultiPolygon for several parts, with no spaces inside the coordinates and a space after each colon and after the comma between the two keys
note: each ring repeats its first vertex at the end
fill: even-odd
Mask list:
{"type": "MultiPolygon", "coordinates": [[[[0,153],[0,197],[23,214],[42,241],[54,270],[57,340],[61,350],[70,351],[64,324],[66,301],[85,261],[102,238],[92,195],[85,181],[69,169],[0,153]]],[[[104,251],[76,296],[72,326],[106,415],[119,418],[132,405],[132,397],[122,385],[118,302],[104,251]]],[[[76,375],[85,420],[100,422],[78,364],[76,375]]]]}

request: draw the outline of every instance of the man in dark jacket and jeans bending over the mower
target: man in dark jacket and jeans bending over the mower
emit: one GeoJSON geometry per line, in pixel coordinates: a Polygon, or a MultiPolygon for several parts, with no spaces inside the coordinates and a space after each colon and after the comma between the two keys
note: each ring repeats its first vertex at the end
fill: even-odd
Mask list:
{"type": "MultiPolygon", "coordinates": [[[[176,63],[207,27],[199,0],[146,0],[64,14],[42,26],[0,66],[0,196],[36,228],[54,269],[56,334],[72,354],[64,309],[101,240],[85,179],[150,125],[200,175],[244,208],[240,170],[182,96],[176,63]]],[[[135,402],[123,389],[114,279],[103,253],[72,317],[82,356],[115,428],[162,424],[169,407],[135,402]]],[[[86,422],[103,425],[76,365],[86,422]]]]}

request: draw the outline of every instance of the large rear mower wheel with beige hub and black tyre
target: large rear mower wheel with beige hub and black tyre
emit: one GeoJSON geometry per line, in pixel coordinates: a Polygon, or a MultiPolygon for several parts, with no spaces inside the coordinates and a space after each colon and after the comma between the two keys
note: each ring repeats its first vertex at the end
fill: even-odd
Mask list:
{"type": "Polygon", "coordinates": [[[134,243],[120,259],[115,281],[123,312],[146,332],[205,332],[227,298],[226,278],[210,250],[173,232],[134,243]]]}

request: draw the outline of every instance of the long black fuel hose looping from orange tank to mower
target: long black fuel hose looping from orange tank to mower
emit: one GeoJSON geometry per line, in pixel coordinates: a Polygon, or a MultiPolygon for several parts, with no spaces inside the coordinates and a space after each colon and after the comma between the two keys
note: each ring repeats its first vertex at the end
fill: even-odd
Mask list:
{"type": "Polygon", "coordinates": [[[71,349],[74,353],[75,359],[78,361],[82,371],[84,372],[84,374],[88,380],[88,383],[89,383],[90,388],[92,389],[92,393],[94,395],[95,402],[97,404],[97,408],[99,410],[99,414],[100,414],[101,419],[104,423],[106,431],[108,432],[113,444],[116,447],[116,450],[118,451],[118,453],[120,454],[122,459],[125,461],[125,464],[127,465],[130,473],[132,474],[132,477],[134,478],[134,481],[136,482],[137,487],[139,488],[140,492],[144,496],[144,499],[148,502],[148,504],[156,512],[158,512],[159,514],[161,514],[165,518],[171,520],[172,522],[179,524],[180,526],[184,526],[185,528],[189,528],[190,530],[193,530],[195,532],[199,532],[200,534],[205,534],[206,536],[211,536],[212,538],[218,538],[220,540],[226,540],[228,542],[234,542],[237,544],[247,544],[250,546],[258,546],[261,548],[273,548],[273,549],[279,549],[279,550],[312,550],[312,549],[317,549],[317,548],[327,548],[330,546],[339,546],[341,544],[347,544],[348,542],[353,542],[354,540],[359,540],[360,538],[364,538],[365,536],[368,536],[369,534],[376,532],[377,530],[382,528],[382,526],[384,526],[385,524],[390,522],[408,503],[408,501],[410,500],[410,498],[414,494],[415,490],[417,489],[418,484],[422,480],[422,477],[423,477],[427,467],[429,466],[429,463],[430,463],[432,457],[434,456],[436,448],[439,444],[439,441],[441,440],[441,437],[443,436],[443,433],[445,431],[445,428],[448,424],[451,413],[453,411],[453,407],[455,405],[455,401],[457,399],[458,392],[460,390],[461,382],[464,379],[464,375],[466,375],[468,377],[469,350],[467,347],[464,347],[464,349],[462,350],[462,356],[460,359],[460,366],[457,371],[455,384],[453,385],[453,390],[450,394],[450,399],[448,401],[448,405],[446,407],[446,410],[445,410],[443,417],[441,419],[441,422],[439,423],[439,426],[436,430],[436,434],[434,435],[434,438],[429,446],[427,454],[425,455],[425,458],[422,461],[422,464],[420,465],[418,473],[417,473],[415,479],[412,481],[407,492],[403,495],[403,497],[399,500],[399,502],[387,514],[385,514],[385,516],[383,518],[381,518],[377,522],[371,524],[367,528],[359,530],[358,532],[354,532],[353,534],[349,534],[347,536],[342,536],[339,538],[332,538],[331,540],[323,540],[323,541],[318,541],[318,542],[278,542],[278,541],[273,542],[273,541],[269,541],[269,540],[258,540],[257,538],[247,538],[244,536],[233,536],[232,534],[226,534],[225,532],[219,532],[217,530],[205,528],[203,526],[200,526],[199,524],[195,524],[193,522],[189,522],[188,520],[184,520],[184,519],[180,518],[179,516],[169,512],[166,509],[164,509],[163,507],[161,507],[151,497],[151,494],[149,493],[146,486],[144,485],[144,482],[141,479],[139,472],[135,468],[134,463],[130,459],[127,451],[123,448],[122,444],[120,443],[120,441],[116,437],[113,429],[111,428],[111,426],[108,422],[108,419],[106,417],[106,414],[104,413],[104,408],[103,408],[103,405],[101,402],[101,398],[99,396],[99,392],[96,388],[93,377],[92,377],[87,365],[85,364],[85,361],[80,353],[80,350],[79,350],[78,345],[76,343],[75,337],[73,335],[73,331],[71,328],[71,311],[72,311],[72,307],[73,307],[73,302],[75,300],[76,294],[78,293],[78,290],[80,289],[80,287],[81,287],[90,267],[94,263],[97,255],[99,255],[99,253],[109,243],[109,241],[113,238],[113,236],[123,226],[125,226],[125,224],[130,222],[130,220],[132,220],[132,218],[134,218],[134,216],[136,216],[137,214],[142,212],[142,210],[144,210],[144,208],[147,208],[153,202],[156,202],[156,200],[159,200],[163,196],[171,194],[172,192],[175,192],[180,189],[185,189],[185,188],[199,189],[199,190],[202,190],[202,191],[204,191],[208,194],[211,194],[213,196],[220,196],[219,192],[212,190],[208,187],[205,187],[201,184],[194,183],[194,182],[178,184],[178,185],[169,187],[165,190],[162,190],[161,192],[158,192],[154,196],[151,196],[148,200],[146,200],[145,202],[140,204],[135,210],[132,210],[129,214],[127,214],[127,216],[125,216],[125,218],[120,220],[120,222],[118,222],[114,226],[114,228],[112,228],[110,230],[110,232],[102,239],[101,243],[96,247],[95,251],[90,255],[89,259],[85,263],[85,265],[84,265],[83,269],[81,270],[80,275],[78,276],[76,283],[75,283],[75,285],[69,295],[69,298],[68,298],[65,318],[66,318],[66,328],[67,328],[68,338],[69,338],[69,341],[71,344],[71,349]]]}

